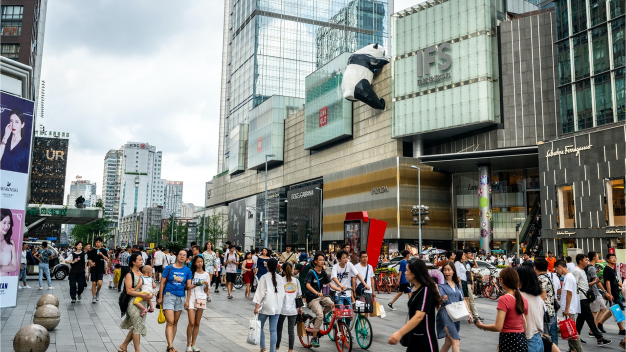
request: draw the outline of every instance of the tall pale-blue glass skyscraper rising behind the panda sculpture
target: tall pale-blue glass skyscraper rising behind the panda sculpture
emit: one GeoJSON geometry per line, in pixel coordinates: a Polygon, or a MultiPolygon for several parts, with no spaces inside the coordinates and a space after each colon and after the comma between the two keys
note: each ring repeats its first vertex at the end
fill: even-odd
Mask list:
{"type": "Polygon", "coordinates": [[[393,0],[226,0],[218,172],[230,132],[272,95],[304,98],[304,78],[344,51],[387,47],[393,0]]]}

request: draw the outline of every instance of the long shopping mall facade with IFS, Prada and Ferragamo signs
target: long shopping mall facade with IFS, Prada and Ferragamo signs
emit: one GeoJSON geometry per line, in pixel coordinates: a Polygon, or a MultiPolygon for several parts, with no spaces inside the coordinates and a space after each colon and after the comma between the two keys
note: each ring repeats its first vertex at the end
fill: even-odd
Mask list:
{"type": "MultiPolygon", "coordinates": [[[[613,23],[623,12],[605,11],[607,35],[621,30],[623,39],[613,23]]],[[[598,73],[608,76],[612,109],[593,98],[579,108],[592,127],[567,130],[568,114],[580,111],[560,94],[557,17],[494,0],[393,14],[391,63],[372,82],[385,110],[342,98],[349,54],[337,56],[305,78],[304,99],[275,95],[250,111],[229,142],[243,170],[214,177],[207,206],[227,209],[230,240],[245,249],[259,246],[265,204],[274,250],[333,250],[346,213],[359,211],[387,222],[384,251],[416,248],[419,191],[430,207],[425,246],[511,252],[520,237],[523,247],[558,252],[623,247],[623,59],[614,57],[623,50],[607,51],[610,65],[598,73]]],[[[567,84],[576,94],[579,82],[567,84]]],[[[598,95],[599,84],[590,86],[598,95]]]]}

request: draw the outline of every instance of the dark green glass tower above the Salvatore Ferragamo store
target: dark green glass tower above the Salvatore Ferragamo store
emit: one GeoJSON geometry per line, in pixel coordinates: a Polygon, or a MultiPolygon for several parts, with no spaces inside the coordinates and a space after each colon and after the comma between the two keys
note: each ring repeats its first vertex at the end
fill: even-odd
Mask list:
{"type": "Polygon", "coordinates": [[[561,132],[626,120],[626,2],[555,3],[561,132]]]}

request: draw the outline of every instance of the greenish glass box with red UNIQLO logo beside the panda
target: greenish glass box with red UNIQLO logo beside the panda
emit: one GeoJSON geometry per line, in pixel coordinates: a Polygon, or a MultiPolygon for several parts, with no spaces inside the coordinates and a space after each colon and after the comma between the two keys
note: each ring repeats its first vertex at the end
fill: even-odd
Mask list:
{"type": "Polygon", "coordinates": [[[350,53],[343,53],[305,79],[304,149],[316,150],[352,136],[352,101],[341,80],[350,53]]]}

